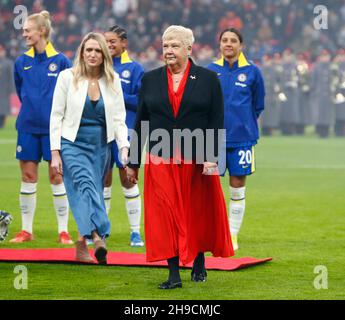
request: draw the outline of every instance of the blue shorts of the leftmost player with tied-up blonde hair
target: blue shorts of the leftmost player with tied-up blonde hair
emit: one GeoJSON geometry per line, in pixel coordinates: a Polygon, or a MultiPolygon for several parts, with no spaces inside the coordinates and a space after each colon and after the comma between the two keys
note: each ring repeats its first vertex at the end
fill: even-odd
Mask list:
{"type": "Polygon", "coordinates": [[[49,134],[18,132],[16,159],[23,161],[51,161],[49,134]]]}

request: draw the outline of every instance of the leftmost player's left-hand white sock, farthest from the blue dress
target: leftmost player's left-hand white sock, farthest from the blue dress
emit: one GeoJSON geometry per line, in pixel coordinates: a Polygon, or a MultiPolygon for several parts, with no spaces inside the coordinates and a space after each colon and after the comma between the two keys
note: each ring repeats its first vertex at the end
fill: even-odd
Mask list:
{"type": "Polygon", "coordinates": [[[22,214],[22,229],[32,234],[37,200],[37,183],[22,182],[20,187],[19,205],[22,214]]]}

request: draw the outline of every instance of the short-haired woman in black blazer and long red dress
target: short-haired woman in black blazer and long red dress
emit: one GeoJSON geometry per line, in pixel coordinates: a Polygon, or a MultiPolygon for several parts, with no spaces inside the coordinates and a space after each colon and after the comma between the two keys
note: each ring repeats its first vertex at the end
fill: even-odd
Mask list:
{"type": "Polygon", "coordinates": [[[204,252],[233,255],[218,176],[223,99],[217,75],[190,59],[193,33],[171,26],[163,34],[166,66],[144,75],[128,179],[138,181],[148,136],[144,177],[147,260],[168,260],[160,289],[182,287],[179,261],[193,263],[191,279],[206,280],[204,252]]]}

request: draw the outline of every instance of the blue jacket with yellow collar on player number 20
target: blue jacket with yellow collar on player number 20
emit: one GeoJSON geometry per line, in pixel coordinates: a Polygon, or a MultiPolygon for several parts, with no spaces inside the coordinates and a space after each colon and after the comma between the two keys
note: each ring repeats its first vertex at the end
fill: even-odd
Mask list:
{"type": "Polygon", "coordinates": [[[217,73],[222,86],[226,146],[256,144],[259,139],[257,119],[265,106],[265,86],[259,68],[243,53],[232,67],[222,57],[208,68],[217,73]]]}

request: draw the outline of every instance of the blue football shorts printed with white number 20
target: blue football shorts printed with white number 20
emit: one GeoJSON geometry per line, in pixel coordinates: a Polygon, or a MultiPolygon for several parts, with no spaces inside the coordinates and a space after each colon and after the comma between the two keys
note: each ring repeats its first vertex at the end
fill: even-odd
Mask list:
{"type": "Polygon", "coordinates": [[[221,157],[219,173],[224,176],[226,169],[230,176],[248,176],[255,172],[254,146],[226,148],[226,155],[221,157]]]}

